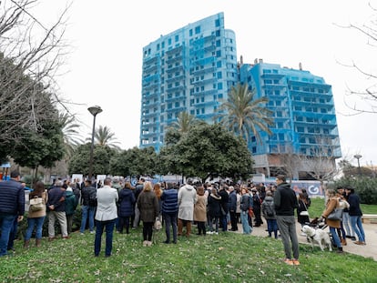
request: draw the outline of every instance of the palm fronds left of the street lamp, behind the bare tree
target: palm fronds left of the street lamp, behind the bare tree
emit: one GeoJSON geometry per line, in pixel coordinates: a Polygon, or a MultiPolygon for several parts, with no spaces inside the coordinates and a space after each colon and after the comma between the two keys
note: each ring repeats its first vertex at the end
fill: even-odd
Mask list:
{"type": "Polygon", "coordinates": [[[76,147],[83,143],[78,131],[79,125],[76,124],[75,116],[65,112],[59,113],[59,124],[62,127],[66,159],[72,157],[76,147]]]}

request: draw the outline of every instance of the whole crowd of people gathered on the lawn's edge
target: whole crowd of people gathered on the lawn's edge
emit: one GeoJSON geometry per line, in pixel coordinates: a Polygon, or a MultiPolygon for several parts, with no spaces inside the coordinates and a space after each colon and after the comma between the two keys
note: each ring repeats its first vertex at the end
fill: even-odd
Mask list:
{"type": "MultiPolygon", "coordinates": [[[[25,215],[25,186],[20,183],[17,171],[11,172],[9,181],[0,182],[0,256],[13,248],[17,223],[25,215]]],[[[24,248],[30,247],[35,231],[36,247],[41,247],[42,227],[48,219],[48,240],[56,238],[55,223],[60,225],[61,237],[72,233],[73,216],[81,207],[80,235],[96,234],[94,255],[101,251],[101,240],[106,231],[105,256],[112,252],[113,233],[130,233],[142,222],[142,245],[153,245],[154,224],[164,223],[165,244],[177,244],[179,236],[190,237],[192,226],[197,226],[197,235],[219,235],[219,232],[238,231],[250,235],[254,227],[267,222],[267,235],[281,238],[285,253],[284,262],[300,265],[296,221],[303,226],[310,222],[308,208],[311,198],[302,189],[296,195],[284,176],[276,178],[276,184],[264,186],[247,183],[200,183],[187,178],[186,183],[162,182],[153,184],[140,178],[136,186],[116,177],[106,177],[102,184],[90,179],[84,182],[74,179],[56,179],[45,189],[43,182],[36,182],[29,194],[27,228],[24,248]],[[297,220],[295,217],[297,211],[297,220]]],[[[360,198],[352,188],[327,190],[328,201],[321,218],[326,219],[335,207],[343,207],[342,220],[326,219],[331,237],[339,252],[352,238],[357,245],[366,245],[362,229],[360,198]],[[356,241],[355,236],[358,237],[356,241]]],[[[321,219],[320,219],[321,220],[321,219]]]]}

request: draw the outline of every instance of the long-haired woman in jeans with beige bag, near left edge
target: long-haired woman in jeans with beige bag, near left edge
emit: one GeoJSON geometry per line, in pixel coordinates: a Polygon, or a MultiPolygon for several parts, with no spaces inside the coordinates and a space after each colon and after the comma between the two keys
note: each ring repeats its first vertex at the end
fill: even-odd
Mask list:
{"type": "Polygon", "coordinates": [[[24,248],[29,248],[30,238],[34,227],[36,227],[36,247],[41,247],[42,240],[42,228],[46,218],[46,203],[47,203],[47,191],[45,184],[41,181],[37,181],[33,187],[33,191],[29,195],[29,199],[34,197],[41,197],[44,206],[41,210],[31,211],[27,213],[27,228],[25,231],[24,248]]]}

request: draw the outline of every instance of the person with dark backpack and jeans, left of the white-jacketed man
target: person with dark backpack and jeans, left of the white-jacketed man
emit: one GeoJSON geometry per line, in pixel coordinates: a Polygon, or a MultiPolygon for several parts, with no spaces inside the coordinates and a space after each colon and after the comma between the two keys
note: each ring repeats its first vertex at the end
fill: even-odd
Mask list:
{"type": "Polygon", "coordinates": [[[81,191],[81,227],[80,235],[84,235],[84,231],[87,227],[87,217],[89,217],[89,231],[90,234],[94,234],[94,217],[97,207],[97,189],[92,186],[92,181],[87,179],[85,181],[85,187],[81,191]]]}

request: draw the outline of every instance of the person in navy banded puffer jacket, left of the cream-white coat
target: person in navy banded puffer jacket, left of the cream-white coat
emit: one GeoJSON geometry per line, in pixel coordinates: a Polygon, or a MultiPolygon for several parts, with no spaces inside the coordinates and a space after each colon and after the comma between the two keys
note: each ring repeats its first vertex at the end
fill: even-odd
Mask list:
{"type": "Polygon", "coordinates": [[[162,217],[165,221],[165,244],[170,243],[170,226],[173,228],[173,243],[177,244],[177,214],[178,214],[178,190],[173,183],[168,182],[161,195],[162,217]]]}

